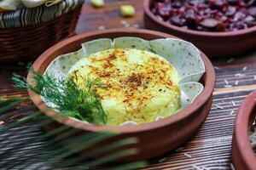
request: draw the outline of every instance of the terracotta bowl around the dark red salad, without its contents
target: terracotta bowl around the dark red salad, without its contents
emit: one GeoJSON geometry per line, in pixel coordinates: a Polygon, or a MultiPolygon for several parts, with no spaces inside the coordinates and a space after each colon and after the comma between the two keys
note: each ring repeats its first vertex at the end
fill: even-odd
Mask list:
{"type": "Polygon", "coordinates": [[[193,42],[209,57],[237,56],[256,48],[256,26],[241,31],[193,31],[159,20],[150,10],[152,0],[144,0],[144,22],[148,29],[163,31],[193,42]]]}

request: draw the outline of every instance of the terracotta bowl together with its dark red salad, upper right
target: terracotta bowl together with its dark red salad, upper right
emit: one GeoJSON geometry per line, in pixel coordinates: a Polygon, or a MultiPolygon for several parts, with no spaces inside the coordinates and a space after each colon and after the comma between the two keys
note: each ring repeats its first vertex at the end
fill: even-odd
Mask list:
{"type": "Polygon", "coordinates": [[[194,42],[210,57],[256,48],[255,0],[144,0],[148,29],[194,42]]]}

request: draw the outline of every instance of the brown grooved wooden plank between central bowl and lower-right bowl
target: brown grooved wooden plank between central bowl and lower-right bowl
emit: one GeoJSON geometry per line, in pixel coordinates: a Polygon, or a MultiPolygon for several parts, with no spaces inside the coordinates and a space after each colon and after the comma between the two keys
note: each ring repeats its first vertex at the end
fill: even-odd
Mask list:
{"type": "Polygon", "coordinates": [[[152,164],[146,169],[195,169],[195,167],[230,169],[231,139],[236,111],[242,99],[249,93],[249,91],[241,91],[215,94],[212,110],[199,132],[183,144],[181,149],[152,160],[152,164]],[[236,96],[236,99],[225,99],[227,96],[236,96]],[[214,108],[214,105],[223,105],[223,102],[232,105],[231,101],[236,102],[237,105],[229,110],[214,108]],[[230,115],[230,111],[233,110],[235,112],[230,115]],[[186,156],[187,154],[189,156],[186,156]]]}

